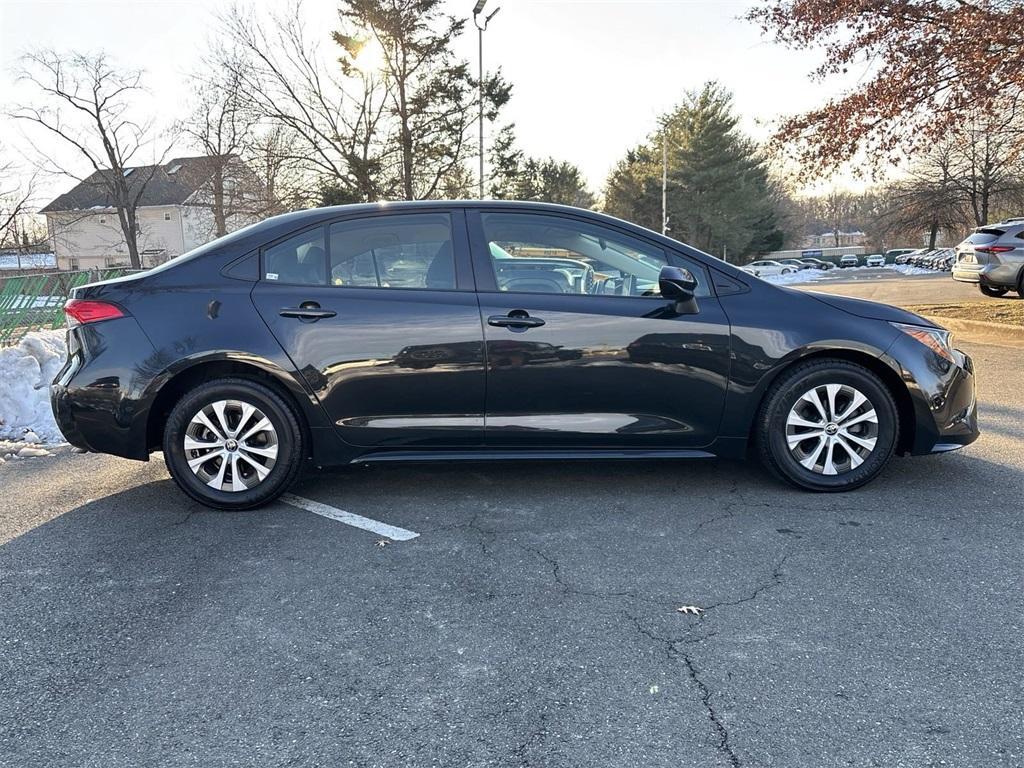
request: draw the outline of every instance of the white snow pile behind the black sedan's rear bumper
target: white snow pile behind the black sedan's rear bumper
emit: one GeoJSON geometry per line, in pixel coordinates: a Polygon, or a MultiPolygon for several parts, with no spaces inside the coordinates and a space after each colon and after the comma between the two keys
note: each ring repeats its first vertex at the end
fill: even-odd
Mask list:
{"type": "Polygon", "coordinates": [[[17,441],[17,452],[9,453],[63,441],[50,410],[49,385],[67,353],[63,331],[36,331],[17,346],[0,348],[0,440],[17,441]]]}

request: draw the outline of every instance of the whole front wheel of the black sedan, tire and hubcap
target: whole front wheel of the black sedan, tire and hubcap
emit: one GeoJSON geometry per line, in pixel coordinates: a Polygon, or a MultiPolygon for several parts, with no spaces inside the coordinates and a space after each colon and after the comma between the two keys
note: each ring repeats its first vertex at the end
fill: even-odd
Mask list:
{"type": "Polygon", "coordinates": [[[886,466],[899,435],[892,393],[867,369],[811,360],[782,374],[758,418],[761,460],[807,490],[852,490],[886,466]]]}

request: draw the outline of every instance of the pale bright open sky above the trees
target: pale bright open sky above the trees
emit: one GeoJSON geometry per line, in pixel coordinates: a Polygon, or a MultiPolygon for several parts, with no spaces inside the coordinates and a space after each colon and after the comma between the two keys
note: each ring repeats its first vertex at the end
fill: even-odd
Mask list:
{"type": "MultiPolygon", "coordinates": [[[[148,106],[169,124],[188,101],[187,74],[201,67],[228,0],[0,0],[0,103],[24,97],[17,58],[31,48],[103,50],[145,71],[148,106]]],[[[469,16],[474,0],[446,2],[469,16]]],[[[284,0],[251,3],[281,10],[284,0]]],[[[501,7],[484,35],[484,66],[500,65],[513,85],[503,121],[516,124],[530,155],[570,161],[599,191],[627,148],[642,141],[657,116],[687,89],[718,80],[735,97],[742,128],[766,137],[772,121],[822,103],[841,84],[808,75],[817,52],[798,52],[763,38],[741,18],[751,2],[718,0],[488,0],[501,7]]],[[[337,27],[335,0],[304,0],[311,30],[337,27]]],[[[457,52],[476,63],[468,25],[457,52]]],[[[0,143],[27,145],[22,124],[0,118],[0,143]]],[[[37,142],[44,152],[52,147],[37,142]]],[[[85,169],[83,169],[84,171],[85,169]]],[[[48,179],[46,194],[73,181],[48,179]]]]}

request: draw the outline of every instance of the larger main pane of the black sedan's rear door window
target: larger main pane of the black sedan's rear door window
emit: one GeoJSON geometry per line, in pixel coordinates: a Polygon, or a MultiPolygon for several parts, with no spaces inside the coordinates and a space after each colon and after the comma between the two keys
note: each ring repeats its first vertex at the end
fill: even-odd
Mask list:
{"type": "Polygon", "coordinates": [[[446,213],[373,216],[331,225],[331,285],[454,290],[446,213]]]}

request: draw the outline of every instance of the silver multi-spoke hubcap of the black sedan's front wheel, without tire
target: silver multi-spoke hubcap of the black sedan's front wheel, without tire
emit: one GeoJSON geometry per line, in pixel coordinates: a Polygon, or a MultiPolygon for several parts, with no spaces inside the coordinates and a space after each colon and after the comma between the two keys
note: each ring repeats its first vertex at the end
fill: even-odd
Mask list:
{"type": "Polygon", "coordinates": [[[794,459],[818,474],[856,469],[878,439],[874,407],[849,384],[821,384],[804,392],[785,420],[785,441],[794,459]]]}

